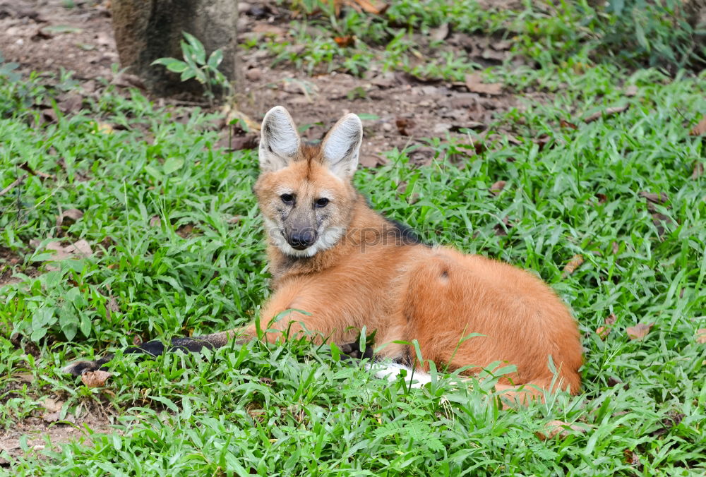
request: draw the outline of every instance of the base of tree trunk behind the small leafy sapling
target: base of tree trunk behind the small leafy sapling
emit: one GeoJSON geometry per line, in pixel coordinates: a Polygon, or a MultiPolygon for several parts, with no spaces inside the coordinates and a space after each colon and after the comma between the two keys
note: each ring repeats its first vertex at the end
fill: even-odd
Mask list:
{"type": "Polygon", "coordinates": [[[196,81],[182,82],[164,66],[152,66],[158,58],[183,58],[182,32],[203,43],[207,58],[222,49],[218,69],[231,83],[237,81],[237,0],[112,0],[112,16],[120,64],[142,78],[150,92],[203,92],[196,81]]]}

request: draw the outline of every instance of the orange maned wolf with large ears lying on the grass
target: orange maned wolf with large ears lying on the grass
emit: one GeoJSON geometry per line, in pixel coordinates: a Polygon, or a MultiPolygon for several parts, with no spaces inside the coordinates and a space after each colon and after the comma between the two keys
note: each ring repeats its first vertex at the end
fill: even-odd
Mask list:
{"type": "MultiPolygon", "coordinates": [[[[305,310],[310,314],[292,310],[271,328],[304,328],[319,342],[345,349],[365,326],[376,330],[378,356],[397,363],[414,366],[415,352],[394,342],[417,339],[424,359],[437,366],[477,373],[498,361],[515,365],[496,388],[522,401],[541,398],[542,390],[578,392],[578,327],[549,286],[503,262],[426,246],[367,205],[352,185],[363,138],[358,116],[343,116],[320,146],[310,146],[277,106],[265,115],[261,134],[261,174],[253,190],[268,234],[274,291],[262,308],[263,324],[285,310],[305,310]],[[471,333],[479,335],[462,340],[471,333]],[[534,386],[519,394],[520,385],[534,386]]],[[[198,351],[256,336],[249,325],[175,338],[171,349],[198,351]]],[[[281,337],[265,334],[269,341],[281,337]]],[[[126,352],[162,354],[164,345],[153,341],[126,352]]],[[[66,370],[78,375],[109,359],[66,370]]]]}

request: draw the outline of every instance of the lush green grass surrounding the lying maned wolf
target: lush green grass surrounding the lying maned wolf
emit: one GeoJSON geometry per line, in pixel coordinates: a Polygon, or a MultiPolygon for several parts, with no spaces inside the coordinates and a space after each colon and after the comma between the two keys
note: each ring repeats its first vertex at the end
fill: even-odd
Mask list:
{"type": "Polygon", "coordinates": [[[11,267],[20,280],[0,289],[0,435],[41,416],[47,395],[64,401],[61,419],[100,409],[115,416],[112,433],[86,431],[83,441],[11,458],[6,470],[702,475],[706,346],[696,330],[706,327],[706,176],[691,174],[705,151],[688,133],[706,110],[705,78],[628,73],[581,55],[488,73],[518,91],[553,93],[491,126],[510,128],[519,145],[501,139],[477,155],[472,132],[462,141],[430,140],[431,166],[410,167],[411,151],[394,150],[389,165],[359,171],[356,183],[377,210],[424,239],[507,260],[549,282],[584,336],[582,394],[502,411],[489,404],[487,387],[459,387],[440,375],[407,390],[304,341],[122,357],[134,337],[225,330],[258,314],[268,292],[251,193],[256,152],[217,149],[214,118],[198,109],[160,109],[138,92],[124,97],[110,88],[80,114],[37,126],[38,106],[75,83],[58,78],[49,88],[37,78],[2,77],[0,189],[28,174],[25,162],[52,177],[28,174],[0,197],[0,247],[19,258],[0,264],[0,273],[11,267]],[[628,85],[637,95],[623,94],[628,85]],[[581,121],[622,104],[629,108],[621,114],[581,121]],[[550,138],[544,147],[542,135],[550,138]],[[489,187],[498,180],[507,183],[494,196],[489,187]],[[668,196],[654,206],[671,219],[664,231],[641,191],[668,196]],[[83,217],[57,230],[56,216],[71,208],[83,217]],[[56,237],[65,245],[85,239],[94,254],[50,263],[30,246],[56,237]],[[577,254],[585,263],[564,277],[577,254]],[[613,329],[599,339],[595,330],[611,313],[613,329]],[[626,328],[638,322],[654,326],[631,340],[626,328]],[[107,351],[118,359],[105,387],[60,371],[107,351]],[[20,380],[25,373],[31,382],[20,380]],[[586,432],[539,440],[534,433],[553,420],[586,432]]]}

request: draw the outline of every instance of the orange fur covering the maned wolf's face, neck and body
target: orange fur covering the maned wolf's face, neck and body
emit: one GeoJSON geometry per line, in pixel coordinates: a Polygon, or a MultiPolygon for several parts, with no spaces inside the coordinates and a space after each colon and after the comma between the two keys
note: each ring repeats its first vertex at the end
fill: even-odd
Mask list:
{"type": "MultiPolygon", "coordinates": [[[[263,140],[266,130],[263,125],[263,140]]],[[[333,132],[329,134],[334,140],[333,132]]],[[[417,339],[424,358],[437,367],[469,366],[468,373],[477,373],[497,361],[510,363],[517,371],[506,375],[498,390],[510,390],[511,395],[517,391],[513,385],[549,390],[554,379],[548,367],[551,356],[558,387],[573,394],[579,391],[578,327],[549,286],[496,260],[448,247],[404,245],[390,234],[381,239],[390,231],[390,223],[366,205],[349,178],[332,174],[323,157],[326,144],[324,140],[322,147],[299,146],[296,155],[284,158],[285,167],[265,168],[254,188],[263,216],[277,227],[286,227],[287,217],[301,212],[315,214],[311,220],[323,221],[325,227],[345,229],[335,245],[311,257],[287,255],[270,237],[274,293],[261,311],[263,325],[283,310],[296,308],[311,315],[292,312],[276,322],[275,329],[283,330],[294,320],[295,332],[303,324],[319,333],[318,340],[324,337],[346,344],[356,341],[357,330],[366,326],[377,330],[376,346],[417,339]],[[289,212],[280,199],[283,190],[297,198],[289,212]],[[316,208],[311,212],[307,207],[322,191],[330,196],[325,213],[316,208]],[[470,333],[484,336],[459,345],[470,333]]],[[[263,154],[261,150],[261,163],[263,154]]],[[[253,337],[255,326],[232,334],[253,337]]],[[[267,339],[277,339],[277,334],[268,334],[267,339]]],[[[414,356],[414,351],[400,344],[385,346],[379,353],[391,358],[414,356]]],[[[532,396],[542,394],[527,390],[532,396]]]]}

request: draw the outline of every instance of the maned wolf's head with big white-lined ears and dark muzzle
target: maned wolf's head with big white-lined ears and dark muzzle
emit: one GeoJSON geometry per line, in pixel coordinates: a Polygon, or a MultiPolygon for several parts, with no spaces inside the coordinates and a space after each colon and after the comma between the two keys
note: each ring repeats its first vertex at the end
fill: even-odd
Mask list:
{"type": "Polygon", "coordinates": [[[320,146],[301,144],[287,109],[265,114],[254,190],[270,242],[282,253],[311,257],[345,234],[357,200],[351,180],[362,140],[355,114],[343,116],[320,146]]]}

